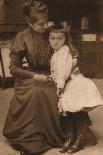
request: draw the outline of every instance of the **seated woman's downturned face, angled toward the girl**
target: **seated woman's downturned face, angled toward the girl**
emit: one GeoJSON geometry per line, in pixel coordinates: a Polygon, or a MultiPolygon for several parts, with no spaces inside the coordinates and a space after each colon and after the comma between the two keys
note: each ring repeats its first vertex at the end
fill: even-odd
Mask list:
{"type": "Polygon", "coordinates": [[[48,19],[39,17],[36,22],[29,24],[35,32],[44,33],[48,27],[48,19]]]}

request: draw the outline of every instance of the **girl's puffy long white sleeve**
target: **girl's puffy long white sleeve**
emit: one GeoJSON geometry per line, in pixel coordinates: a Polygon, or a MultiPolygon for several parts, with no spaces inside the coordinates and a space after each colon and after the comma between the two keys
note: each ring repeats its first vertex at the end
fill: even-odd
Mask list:
{"type": "Polygon", "coordinates": [[[70,76],[72,70],[72,55],[68,46],[62,47],[54,54],[51,61],[52,77],[58,88],[64,88],[65,81],[70,76]]]}

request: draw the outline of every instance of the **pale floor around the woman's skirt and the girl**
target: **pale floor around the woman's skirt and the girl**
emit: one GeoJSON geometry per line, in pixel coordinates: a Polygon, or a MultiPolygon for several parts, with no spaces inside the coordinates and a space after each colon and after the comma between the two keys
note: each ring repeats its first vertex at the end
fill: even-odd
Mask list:
{"type": "MultiPolygon", "coordinates": [[[[100,93],[103,97],[103,79],[93,80],[97,85],[100,93]]],[[[0,155],[20,155],[19,152],[13,150],[7,140],[2,135],[2,129],[4,126],[5,118],[9,108],[9,103],[13,95],[13,89],[0,89],[0,155]]],[[[90,112],[93,130],[96,138],[97,145],[93,147],[87,147],[82,151],[75,153],[75,155],[103,155],[103,106],[96,108],[90,112]]],[[[58,149],[52,149],[45,153],[45,155],[61,155],[58,149]]],[[[67,155],[65,153],[65,155],[67,155]]]]}

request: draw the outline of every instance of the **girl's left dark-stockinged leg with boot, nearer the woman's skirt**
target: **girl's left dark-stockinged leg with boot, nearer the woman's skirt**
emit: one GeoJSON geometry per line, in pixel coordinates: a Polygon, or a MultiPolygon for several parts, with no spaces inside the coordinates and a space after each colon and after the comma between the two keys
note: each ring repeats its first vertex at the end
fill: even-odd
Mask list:
{"type": "Polygon", "coordinates": [[[68,113],[65,116],[65,133],[66,133],[66,141],[63,145],[63,148],[60,150],[61,153],[66,152],[70,146],[74,143],[75,140],[75,130],[74,130],[74,114],[68,113]]]}

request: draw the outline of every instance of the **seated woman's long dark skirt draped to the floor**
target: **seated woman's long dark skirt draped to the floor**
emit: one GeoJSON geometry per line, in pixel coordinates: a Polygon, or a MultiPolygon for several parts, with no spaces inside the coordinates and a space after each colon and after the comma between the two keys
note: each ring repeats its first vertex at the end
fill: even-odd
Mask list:
{"type": "Polygon", "coordinates": [[[53,83],[17,80],[3,134],[10,143],[30,152],[61,146],[64,134],[53,83]]]}

